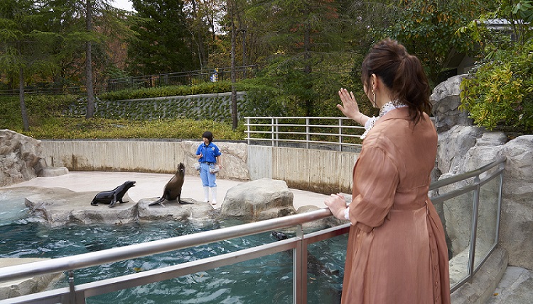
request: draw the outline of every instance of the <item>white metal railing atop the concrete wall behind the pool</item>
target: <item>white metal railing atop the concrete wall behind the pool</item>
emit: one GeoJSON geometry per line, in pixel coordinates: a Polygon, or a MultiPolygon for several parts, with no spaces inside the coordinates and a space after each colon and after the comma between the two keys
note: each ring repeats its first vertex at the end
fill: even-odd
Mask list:
{"type": "Polygon", "coordinates": [[[365,128],[345,117],[245,117],[248,145],[305,147],[329,145],[357,150],[365,128]]]}

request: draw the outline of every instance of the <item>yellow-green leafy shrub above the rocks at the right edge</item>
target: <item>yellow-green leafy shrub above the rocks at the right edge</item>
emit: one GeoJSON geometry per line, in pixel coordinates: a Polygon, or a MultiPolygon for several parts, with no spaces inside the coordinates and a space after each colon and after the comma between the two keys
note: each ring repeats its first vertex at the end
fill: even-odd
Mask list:
{"type": "Polygon", "coordinates": [[[533,43],[493,53],[461,84],[461,110],[488,130],[533,131],[533,43]]]}

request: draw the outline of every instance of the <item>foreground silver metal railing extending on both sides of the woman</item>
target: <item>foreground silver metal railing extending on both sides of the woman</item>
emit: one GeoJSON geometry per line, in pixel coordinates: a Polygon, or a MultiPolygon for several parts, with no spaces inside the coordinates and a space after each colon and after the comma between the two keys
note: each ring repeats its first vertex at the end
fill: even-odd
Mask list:
{"type": "MultiPolygon", "coordinates": [[[[478,269],[480,269],[480,266],[482,266],[486,259],[488,259],[490,253],[497,245],[502,201],[502,174],[505,160],[505,157],[503,157],[474,171],[436,181],[431,184],[430,191],[436,193],[431,200],[436,206],[447,203],[453,206],[466,206],[470,208],[469,210],[471,211],[470,214],[465,215],[471,218],[471,225],[470,227],[467,227],[470,235],[470,244],[465,250],[465,252],[468,253],[468,263],[461,265],[463,267],[460,267],[461,269],[464,269],[464,275],[456,280],[451,280],[452,292],[462,286],[463,283],[473,278],[478,269]],[[488,187],[492,181],[497,181],[497,184],[488,187]],[[453,187],[453,189],[441,193],[446,187],[450,187],[453,184],[459,184],[460,186],[453,187]],[[488,188],[485,189],[485,187],[488,188]],[[465,198],[465,194],[470,194],[470,196],[468,196],[468,199],[463,200],[462,198],[465,198]],[[480,198],[483,198],[484,201],[480,201],[480,198]],[[478,220],[480,216],[483,217],[483,221],[478,220]],[[492,218],[492,224],[494,225],[489,232],[485,231],[487,228],[486,225],[478,225],[478,223],[483,223],[487,218],[492,218]],[[483,232],[485,235],[480,235],[480,232],[483,232]],[[479,248],[476,249],[476,246],[483,250],[480,250],[479,248]]],[[[266,255],[283,252],[289,249],[293,250],[293,303],[306,303],[308,245],[348,233],[350,224],[331,227],[308,234],[304,234],[302,225],[313,220],[327,218],[330,215],[330,211],[327,208],[324,208],[309,213],[289,215],[283,218],[274,218],[256,223],[199,232],[193,235],[184,235],[165,240],[106,249],[99,252],[79,254],[72,257],[62,257],[4,267],[0,269],[0,282],[65,271],[69,274],[70,286],[68,288],[58,288],[41,293],[23,295],[17,298],[0,300],[0,304],[85,303],[85,298],[94,295],[120,291],[134,286],[154,283],[156,281],[165,281],[169,278],[176,278],[187,274],[194,274],[198,271],[205,271],[220,266],[236,264],[249,259],[265,257],[266,255]],[[237,252],[221,254],[215,257],[199,259],[160,269],[141,271],[136,274],[128,274],[117,278],[102,279],[100,281],[83,283],[80,285],[75,285],[74,283],[75,278],[73,270],[75,269],[99,266],[136,257],[145,257],[152,254],[170,252],[177,249],[195,247],[202,244],[209,244],[221,240],[244,237],[260,232],[269,232],[293,226],[297,227],[296,237],[287,240],[263,244],[249,249],[242,249],[237,252]]],[[[453,259],[455,259],[455,257],[453,259]]],[[[453,259],[451,263],[453,262],[453,259]]]]}

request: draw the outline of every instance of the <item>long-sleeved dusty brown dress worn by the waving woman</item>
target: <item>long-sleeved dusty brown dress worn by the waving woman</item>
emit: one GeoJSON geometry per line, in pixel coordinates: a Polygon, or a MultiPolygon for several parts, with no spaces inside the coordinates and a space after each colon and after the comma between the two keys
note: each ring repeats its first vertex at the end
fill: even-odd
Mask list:
{"type": "Polygon", "coordinates": [[[448,249],[429,201],[437,135],[429,117],[386,113],[353,169],[342,303],[450,303],[448,249]]]}

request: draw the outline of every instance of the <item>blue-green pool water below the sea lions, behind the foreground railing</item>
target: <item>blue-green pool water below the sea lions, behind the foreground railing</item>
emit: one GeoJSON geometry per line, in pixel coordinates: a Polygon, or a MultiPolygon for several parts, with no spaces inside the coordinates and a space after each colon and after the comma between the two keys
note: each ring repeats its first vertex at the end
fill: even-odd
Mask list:
{"type": "MultiPolygon", "coordinates": [[[[138,244],[242,224],[237,220],[203,223],[154,222],[131,225],[48,227],[27,218],[23,199],[0,196],[0,258],[57,258],[138,244]],[[4,201],[2,201],[4,199],[4,201]],[[7,207],[9,206],[9,208],[7,207]],[[4,208],[5,207],[5,208],[4,208]]],[[[291,232],[287,234],[291,237],[291,232]]],[[[276,242],[269,232],[181,249],[151,257],[79,269],[75,283],[158,269],[276,242]]],[[[339,303],[347,237],[308,247],[308,303],[339,303]]],[[[280,252],[167,281],[87,298],[87,303],[292,303],[292,254],[280,252]]],[[[67,286],[67,279],[54,287],[67,286]]]]}

